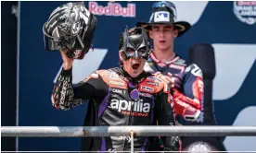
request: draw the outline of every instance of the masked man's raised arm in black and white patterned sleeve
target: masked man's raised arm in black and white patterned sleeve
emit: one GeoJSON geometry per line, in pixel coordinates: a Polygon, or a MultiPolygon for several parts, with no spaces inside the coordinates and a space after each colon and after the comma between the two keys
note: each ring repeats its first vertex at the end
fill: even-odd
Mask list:
{"type": "Polygon", "coordinates": [[[62,68],[52,92],[52,104],[57,109],[69,110],[83,104],[96,96],[108,94],[108,85],[98,75],[97,71],[83,79],[80,83],[72,85],[72,68],[62,68]]]}

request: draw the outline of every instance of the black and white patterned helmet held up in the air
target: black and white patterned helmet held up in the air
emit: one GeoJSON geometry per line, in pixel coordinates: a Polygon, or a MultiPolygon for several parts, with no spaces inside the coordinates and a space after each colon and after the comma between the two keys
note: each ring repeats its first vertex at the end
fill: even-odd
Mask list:
{"type": "Polygon", "coordinates": [[[88,53],[96,29],[96,16],[90,13],[83,2],[58,6],[43,27],[45,50],[67,49],[67,55],[83,59],[88,53]]]}

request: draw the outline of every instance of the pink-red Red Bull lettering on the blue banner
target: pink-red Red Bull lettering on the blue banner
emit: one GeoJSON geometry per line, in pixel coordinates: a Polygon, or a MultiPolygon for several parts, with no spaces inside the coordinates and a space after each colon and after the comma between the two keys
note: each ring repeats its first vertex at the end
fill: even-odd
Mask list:
{"type": "Polygon", "coordinates": [[[100,6],[97,2],[89,2],[89,11],[98,16],[115,16],[123,18],[134,18],[136,16],[136,6],[128,3],[122,7],[120,3],[108,3],[108,6],[100,6]]]}

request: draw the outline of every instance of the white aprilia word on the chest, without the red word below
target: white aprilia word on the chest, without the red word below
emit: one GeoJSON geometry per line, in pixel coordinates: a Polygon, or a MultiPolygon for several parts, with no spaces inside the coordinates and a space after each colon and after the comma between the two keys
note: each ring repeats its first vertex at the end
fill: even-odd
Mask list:
{"type": "Polygon", "coordinates": [[[116,100],[112,99],[110,103],[110,108],[117,110],[118,112],[122,111],[132,111],[133,112],[149,112],[150,103],[143,103],[143,100],[139,101],[127,101],[127,100],[116,100]]]}

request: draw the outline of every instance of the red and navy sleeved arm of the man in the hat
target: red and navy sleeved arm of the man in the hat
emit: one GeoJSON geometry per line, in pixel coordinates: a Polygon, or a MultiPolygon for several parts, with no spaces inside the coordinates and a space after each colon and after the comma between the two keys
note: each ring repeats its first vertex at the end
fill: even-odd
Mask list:
{"type": "Polygon", "coordinates": [[[202,111],[203,86],[202,72],[198,65],[187,66],[183,77],[182,89],[173,88],[175,112],[186,114],[184,117],[191,120],[197,119],[198,111],[202,111]],[[187,105],[187,103],[193,107],[187,105]]]}

